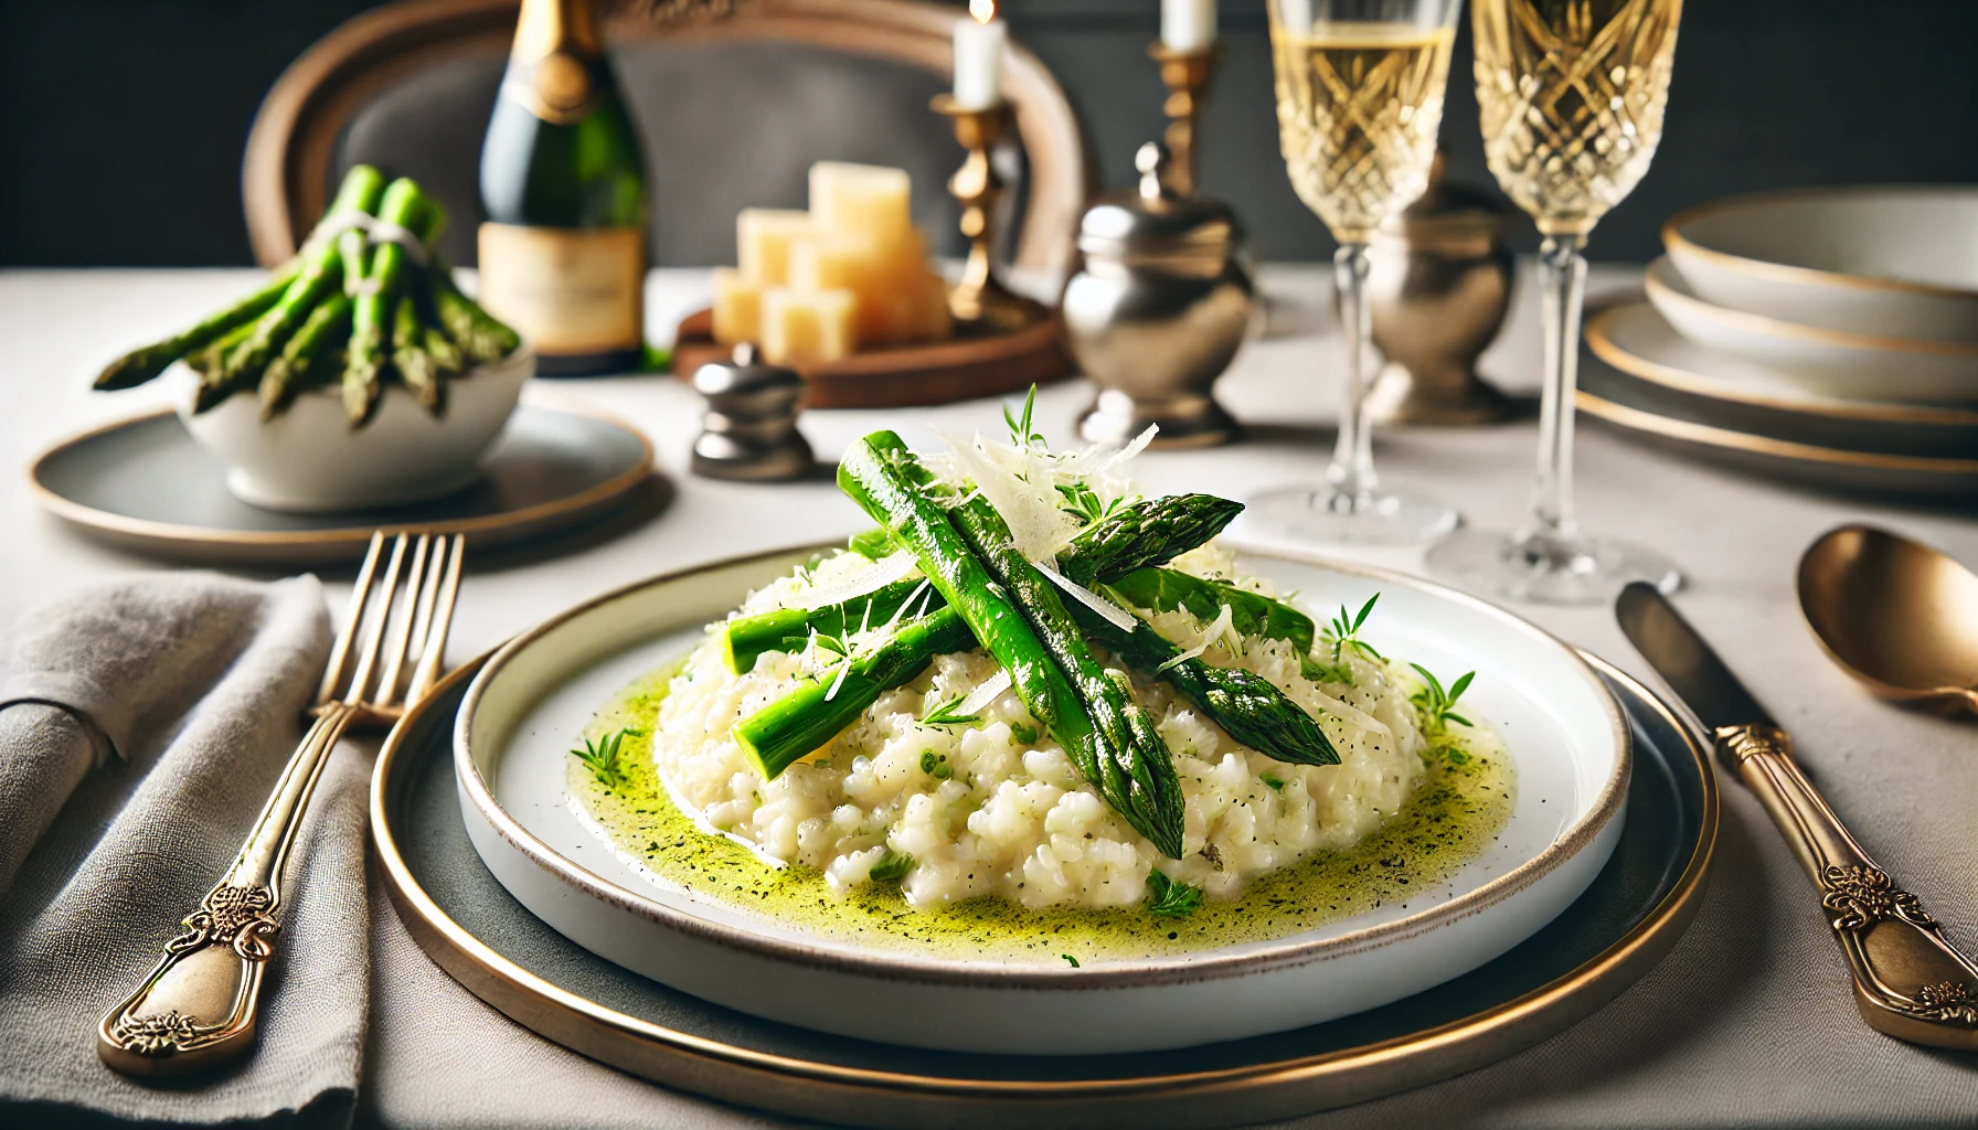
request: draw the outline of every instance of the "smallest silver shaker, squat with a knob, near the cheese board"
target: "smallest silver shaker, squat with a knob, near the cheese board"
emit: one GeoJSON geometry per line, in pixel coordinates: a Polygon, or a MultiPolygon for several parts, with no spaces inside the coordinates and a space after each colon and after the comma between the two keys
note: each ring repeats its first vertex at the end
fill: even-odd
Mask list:
{"type": "Polygon", "coordinates": [[[708,412],[694,439],[694,475],[777,483],[811,471],[811,445],[797,431],[803,378],[779,364],[758,364],[756,346],[738,344],[732,362],[708,362],[694,374],[708,412]]]}

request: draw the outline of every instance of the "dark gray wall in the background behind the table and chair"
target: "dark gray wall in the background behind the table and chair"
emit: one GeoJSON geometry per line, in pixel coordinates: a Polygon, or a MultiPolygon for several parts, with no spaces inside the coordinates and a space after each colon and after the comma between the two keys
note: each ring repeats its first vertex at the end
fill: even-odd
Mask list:
{"type": "MultiPolygon", "coordinates": [[[[239,152],[261,93],[366,0],[0,0],[0,263],[245,263],[239,152]]],[[[1159,135],[1157,0],[1005,0],[1104,182],[1159,135]]],[[[1329,253],[1278,164],[1262,0],[1224,0],[1203,188],[1260,257],[1329,253]]],[[[1654,170],[1594,234],[1646,259],[1677,208],[1754,188],[1978,182],[1978,2],[1691,0],[1654,170]]],[[[1458,40],[1444,142],[1487,182],[1458,40]]],[[[659,202],[665,208],[665,202],[659,202]]],[[[1529,230],[1525,232],[1529,241],[1529,230]]]]}

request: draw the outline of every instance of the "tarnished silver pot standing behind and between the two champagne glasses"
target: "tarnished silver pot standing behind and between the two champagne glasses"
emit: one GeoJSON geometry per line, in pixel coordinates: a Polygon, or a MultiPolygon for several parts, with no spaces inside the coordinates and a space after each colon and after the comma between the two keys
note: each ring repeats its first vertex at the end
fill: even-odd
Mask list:
{"type": "Polygon", "coordinates": [[[1375,232],[1367,257],[1373,344],[1387,364],[1367,392],[1381,424],[1466,425],[1507,420],[1515,404],[1478,378],[1478,356],[1511,307],[1511,212],[1442,178],[1375,232]]]}

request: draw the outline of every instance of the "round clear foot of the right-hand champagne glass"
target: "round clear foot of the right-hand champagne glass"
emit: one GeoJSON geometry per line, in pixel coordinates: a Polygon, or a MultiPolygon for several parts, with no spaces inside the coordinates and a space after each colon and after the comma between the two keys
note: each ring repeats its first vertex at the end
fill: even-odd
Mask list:
{"type": "Polygon", "coordinates": [[[1606,604],[1622,586],[1646,580],[1675,592],[1675,562],[1612,538],[1549,538],[1464,530],[1428,550],[1428,570],[1484,596],[1531,604],[1606,604]]]}

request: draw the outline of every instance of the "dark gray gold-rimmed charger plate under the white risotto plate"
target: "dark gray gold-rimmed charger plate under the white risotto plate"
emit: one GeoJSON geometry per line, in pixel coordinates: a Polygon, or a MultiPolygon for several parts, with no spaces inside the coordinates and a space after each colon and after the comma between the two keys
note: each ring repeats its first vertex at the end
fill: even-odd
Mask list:
{"type": "Polygon", "coordinates": [[[1588,657],[1626,705],[1636,776],[1594,885],[1503,958],[1296,1033],[1175,1053],[985,1057],[760,1021],[629,974],[536,920],[481,865],[453,778],[453,714],[479,663],[392,732],[372,839],[400,918],[510,1019],[633,1075],[712,1098],[870,1126],[1226,1126],[1393,1094],[1513,1055],[1608,1003],[1675,944],[1717,839],[1709,758],[1662,701],[1588,657]]]}

